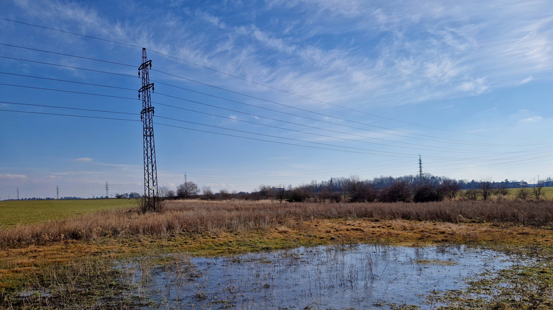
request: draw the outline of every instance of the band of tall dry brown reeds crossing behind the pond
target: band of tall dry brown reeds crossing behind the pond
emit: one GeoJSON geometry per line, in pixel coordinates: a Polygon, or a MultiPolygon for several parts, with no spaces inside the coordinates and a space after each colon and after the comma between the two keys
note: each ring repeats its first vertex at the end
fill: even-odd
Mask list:
{"type": "Polygon", "coordinates": [[[547,226],[553,201],[448,201],[428,203],[288,203],[169,201],[164,212],[113,211],[0,230],[0,248],[101,237],[243,231],[290,226],[311,219],[368,218],[435,222],[498,222],[547,226]]]}

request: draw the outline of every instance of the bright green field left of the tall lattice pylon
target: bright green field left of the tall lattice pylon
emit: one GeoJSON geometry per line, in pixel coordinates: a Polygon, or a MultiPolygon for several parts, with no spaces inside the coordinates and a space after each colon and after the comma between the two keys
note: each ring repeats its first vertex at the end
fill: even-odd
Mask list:
{"type": "Polygon", "coordinates": [[[48,222],[112,209],[135,207],[133,199],[0,201],[0,227],[48,222]]]}

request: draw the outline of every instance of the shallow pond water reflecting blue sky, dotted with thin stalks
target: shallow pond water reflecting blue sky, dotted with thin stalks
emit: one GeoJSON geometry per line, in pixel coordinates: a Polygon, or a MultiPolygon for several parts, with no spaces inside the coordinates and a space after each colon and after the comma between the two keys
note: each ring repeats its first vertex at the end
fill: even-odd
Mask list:
{"type": "Polygon", "coordinates": [[[502,253],[465,246],[369,244],[191,262],[194,277],[153,271],[146,296],[173,309],[374,309],[383,302],[430,309],[432,290],[459,289],[466,277],[510,264],[502,253]]]}

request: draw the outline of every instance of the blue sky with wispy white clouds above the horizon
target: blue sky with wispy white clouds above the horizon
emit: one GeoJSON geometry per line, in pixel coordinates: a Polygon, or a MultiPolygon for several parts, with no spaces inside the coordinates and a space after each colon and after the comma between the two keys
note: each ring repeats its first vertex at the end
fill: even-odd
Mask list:
{"type": "Polygon", "coordinates": [[[553,176],[549,1],[0,1],[0,200],[553,176]]]}

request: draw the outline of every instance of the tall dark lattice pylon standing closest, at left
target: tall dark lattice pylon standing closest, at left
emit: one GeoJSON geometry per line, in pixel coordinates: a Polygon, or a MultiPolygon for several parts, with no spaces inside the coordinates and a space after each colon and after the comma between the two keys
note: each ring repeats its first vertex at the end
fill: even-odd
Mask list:
{"type": "Polygon", "coordinates": [[[154,144],[154,107],[150,89],[154,91],[154,84],[150,83],[148,69],[152,67],[152,61],[147,59],[146,49],[142,49],[142,64],[138,68],[138,76],[142,76],[142,88],[138,91],[138,98],[142,94],[142,111],[140,119],[143,122],[144,136],[144,211],[157,211],[157,166],[155,163],[154,144]]]}

